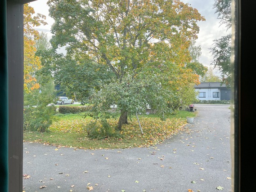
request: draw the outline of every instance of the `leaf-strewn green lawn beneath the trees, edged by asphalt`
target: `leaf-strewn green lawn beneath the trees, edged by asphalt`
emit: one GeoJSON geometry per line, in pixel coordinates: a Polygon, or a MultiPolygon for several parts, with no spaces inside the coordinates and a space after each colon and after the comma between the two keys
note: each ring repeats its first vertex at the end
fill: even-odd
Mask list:
{"type": "MultiPolygon", "coordinates": [[[[121,138],[105,138],[93,140],[87,137],[84,130],[91,118],[82,118],[81,114],[56,115],[54,123],[45,133],[24,131],[24,142],[45,143],[63,147],[85,149],[149,147],[170,138],[184,130],[186,116],[196,116],[197,112],[180,111],[161,121],[156,115],[140,115],[139,121],[144,134],[141,134],[136,116],[128,119],[128,125],[123,125],[121,138]]],[[[111,119],[109,124],[115,127],[118,119],[111,119]]]]}

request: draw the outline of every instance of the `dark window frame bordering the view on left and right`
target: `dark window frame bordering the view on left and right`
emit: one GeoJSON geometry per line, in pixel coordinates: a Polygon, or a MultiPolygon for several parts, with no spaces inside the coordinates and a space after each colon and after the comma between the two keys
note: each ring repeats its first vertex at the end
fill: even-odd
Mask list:
{"type": "MultiPolygon", "coordinates": [[[[23,5],[27,2],[31,2],[34,0],[6,0],[9,4],[7,6],[7,31],[8,37],[7,40],[12,41],[11,44],[8,44],[8,58],[11,55],[19,55],[22,56],[22,39],[15,38],[15,34],[10,32],[10,29],[17,29],[17,22],[19,22],[20,27],[22,27],[22,22],[19,18],[22,18],[21,12],[23,11],[23,5]],[[13,14],[15,13],[15,14],[13,14]],[[17,13],[17,14],[16,14],[17,13]],[[14,17],[15,15],[15,17],[14,17]],[[17,22],[15,22],[17,21],[17,22]],[[15,26],[16,25],[16,26],[15,26]],[[15,28],[16,27],[16,28],[15,28]],[[18,49],[18,52],[17,52],[18,49]]],[[[252,21],[255,16],[252,14],[256,7],[256,1],[247,1],[242,0],[232,0],[232,3],[235,6],[232,8],[232,13],[235,13],[233,19],[235,22],[234,26],[234,36],[232,43],[232,53],[234,55],[234,82],[232,87],[234,88],[233,99],[234,99],[234,108],[232,108],[231,112],[234,116],[234,121],[231,122],[231,128],[234,127],[234,154],[232,155],[232,164],[234,166],[234,172],[232,182],[234,184],[234,192],[242,192],[244,188],[250,191],[250,189],[254,189],[255,183],[255,173],[253,172],[256,165],[252,162],[253,154],[251,156],[251,152],[246,152],[248,150],[248,146],[254,146],[254,139],[248,139],[248,135],[251,133],[248,129],[241,129],[242,125],[245,125],[245,128],[254,127],[254,121],[251,121],[254,118],[254,114],[252,110],[253,107],[248,108],[248,106],[252,105],[254,100],[253,94],[248,94],[247,91],[251,87],[249,87],[252,82],[254,82],[255,72],[254,70],[250,70],[251,61],[254,60],[254,49],[248,46],[248,42],[253,45],[256,40],[250,36],[252,34],[252,27],[248,25],[248,21],[252,21]],[[241,14],[243,13],[243,15],[241,14]],[[241,23],[246,23],[245,25],[241,25],[241,23]],[[243,33],[241,32],[243,31],[243,33]],[[243,65],[241,64],[243,63],[243,65]],[[246,137],[242,137],[246,135],[246,137]],[[241,155],[243,154],[243,156],[241,155]],[[252,158],[250,158],[252,157],[252,158]]],[[[233,22],[233,24],[234,24],[233,22]]],[[[15,30],[14,30],[15,31],[15,30]]],[[[19,32],[19,36],[23,35],[23,33],[19,32]]],[[[17,57],[17,56],[16,56],[17,57]]],[[[21,119],[22,115],[22,107],[23,107],[23,87],[20,86],[19,81],[20,77],[22,77],[23,71],[20,69],[22,65],[22,59],[17,58],[18,62],[13,63],[8,59],[8,67],[9,67],[9,122],[16,121],[19,124],[16,128],[13,128],[13,125],[9,125],[9,141],[18,142],[18,144],[13,147],[9,142],[9,191],[22,191],[22,141],[16,141],[15,138],[22,139],[20,127],[22,126],[21,119]],[[13,68],[16,67],[16,68],[13,68]],[[18,67],[18,68],[17,68],[18,67]],[[12,71],[13,70],[13,71],[12,71]],[[18,85],[15,85],[18,83],[18,85]],[[19,88],[18,90],[16,88],[19,88]],[[15,93],[15,94],[14,94],[15,93]],[[17,100],[17,97],[19,98],[17,100]],[[17,105],[18,104],[18,109],[17,105]],[[22,107],[21,107],[22,106],[22,107]],[[13,111],[13,108],[18,111],[17,113],[11,114],[10,111],[13,111]],[[18,116],[16,116],[18,114],[18,116]],[[18,129],[17,132],[12,132],[12,129],[18,129]],[[18,149],[18,159],[13,161],[10,160],[12,158],[12,152],[17,151],[18,149]],[[11,153],[10,153],[11,152],[11,153]],[[11,190],[10,187],[15,187],[15,190],[11,190]]],[[[21,78],[23,80],[23,77],[21,78]]],[[[7,90],[8,91],[8,90],[7,90]]],[[[254,134],[254,132],[253,132],[254,134]]],[[[231,145],[233,145],[231,143],[231,145]]],[[[6,147],[6,146],[3,146],[6,147]]],[[[232,146],[231,146],[232,147],[232,146]]]]}

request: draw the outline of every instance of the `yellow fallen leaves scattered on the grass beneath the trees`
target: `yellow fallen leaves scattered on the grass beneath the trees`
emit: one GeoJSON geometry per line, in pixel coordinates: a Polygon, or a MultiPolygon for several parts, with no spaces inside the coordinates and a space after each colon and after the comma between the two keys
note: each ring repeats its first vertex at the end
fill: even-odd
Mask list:
{"type": "MultiPolygon", "coordinates": [[[[81,140],[86,140],[85,125],[90,123],[91,119],[76,119],[76,120],[63,120],[54,122],[49,130],[51,133],[62,133],[62,134],[80,134],[81,140]]],[[[122,147],[148,147],[150,145],[156,145],[159,142],[170,138],[171,135],[177,134],[180,131],[184,131],[184,125],[187,123],[182,118],[171,118],[162,121],[156,117],[140,117],[140,124],[143,129],[143,133],[139,128],[139,123],[136,118],[129,121],[127,125],[122,126],[121,138],[105,138],[101,141],[108,140],[108,143],[125,143],[122,147]],[[130,142],[130,143],[129,143],[130,142]]],[[[118,120],[108,120],[110,126],[115,127],[118,124],[118,120]]],[[[117,130],[115,130],[117,131],[117,130]]],[[[96,141],[96,140],[94,140],[96,141]]],[[[59,143],[56,143],[59,144],[59,143]]],[[[76,146],[81,147],[81,146],[76,146]]],[[[109,148],[114,146],[109,146],[109,148]]],[[[99,147],[92,147],[99,148],[99,147]]]]}

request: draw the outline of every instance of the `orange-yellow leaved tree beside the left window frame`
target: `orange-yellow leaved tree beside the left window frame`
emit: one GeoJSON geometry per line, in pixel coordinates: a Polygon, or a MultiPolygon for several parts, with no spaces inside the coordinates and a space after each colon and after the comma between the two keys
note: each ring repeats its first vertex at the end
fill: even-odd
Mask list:
{"type": "Polygon", "coordinates": [[[33,27],[47,24],[45,16],[35,13],[29,4],[24,4],[24,90],[30,92],[38,89],[39,84],[36,82],[35,71],[41,68],[39,57],[36,54],[36,40],[39,38],[38,31],[33,27]]]}

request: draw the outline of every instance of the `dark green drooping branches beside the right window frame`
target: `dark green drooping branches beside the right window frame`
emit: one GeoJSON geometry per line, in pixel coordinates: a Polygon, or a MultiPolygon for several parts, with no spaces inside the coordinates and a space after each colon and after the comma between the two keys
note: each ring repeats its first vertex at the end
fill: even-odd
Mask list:
{"type": "MultiPolygon", "coordinates": [[[[231,0],[215,0],[213,8],[218,14],[220,25],[225,24],[227,30],[231,27],[231,0]]],[[[211,65],[220,70],[222,82],[226,85],[231,81],[231,34],[214,40],[214,47],[210,48],[213,55],[211,65]]]]}

